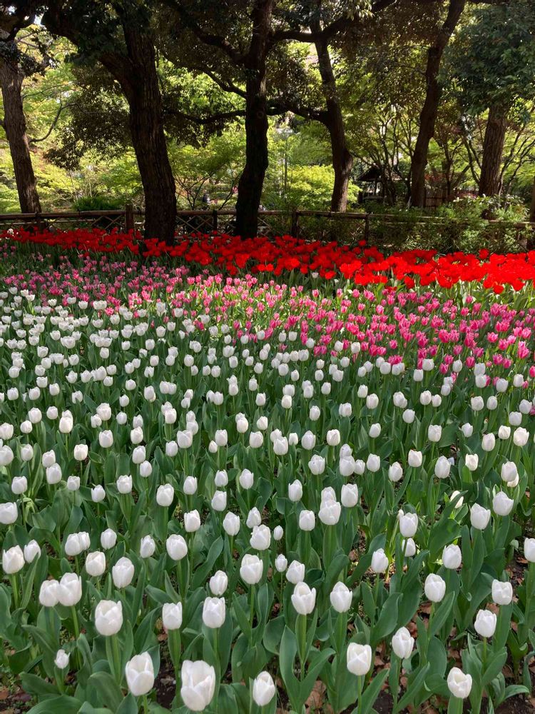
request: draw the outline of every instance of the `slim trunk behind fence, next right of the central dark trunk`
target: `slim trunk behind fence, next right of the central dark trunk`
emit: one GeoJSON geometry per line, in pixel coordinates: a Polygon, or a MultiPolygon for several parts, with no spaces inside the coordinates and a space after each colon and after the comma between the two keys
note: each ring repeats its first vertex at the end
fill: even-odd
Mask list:
{"type": "MultiPolygon", "coordinates": [[[[311,24],[311,29],[312,31],[320,30],[319,20],[315,24],[311,24]]],[[[344,117],[342,116],[342,109],[340,108],[340,101],[336,91],[336,78],[335,73],[332,71],[329,46],[325,40],[317,41],[315,45],[318,67],[322,78],[322,91],[327,106],[327,111],[322,112],[322,114],[325,116],[324,124],[329,131],[332,168],[335,170],[331,211],[345,211],[347,208],[347,191],[353,168],[353,156],[347,148],[344,117]]]]}

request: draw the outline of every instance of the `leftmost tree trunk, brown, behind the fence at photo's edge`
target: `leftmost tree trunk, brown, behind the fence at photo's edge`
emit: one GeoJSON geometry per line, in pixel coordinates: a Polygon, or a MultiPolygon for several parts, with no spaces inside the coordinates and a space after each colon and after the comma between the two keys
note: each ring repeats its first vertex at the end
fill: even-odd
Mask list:
{"type": "Polygon", "coordinates": [[[19,66],[0,61],[0,83],[4,101],[4,129],[13,161],[16,190],[22,213],[41,211],[30,145],[26,135],[26,117],[22,106],[22,81],[19,66]]]}

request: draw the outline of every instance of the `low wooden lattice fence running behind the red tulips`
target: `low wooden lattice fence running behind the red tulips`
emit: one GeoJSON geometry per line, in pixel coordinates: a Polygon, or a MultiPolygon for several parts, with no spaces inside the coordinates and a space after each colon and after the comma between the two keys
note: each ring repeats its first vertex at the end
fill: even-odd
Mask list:
{"type": "MultiPolygon", "coordinates": [[[[213,208],[203,211],[187,210],[177,211],[176,235],[184,236],[188,233],[233,233],[236,211],[234,208],[213,208]]],[[[258,234],[263,236],[286,235],[302,236],[311,239],[329,240],[340,238],[347,242],[365,240],[367,242],[389,245],[392,243],[392,228],[403,231],[412,239],[418,235],[427,235],[432,241],[432,226],[442,236],[452,226],[462,229],[464,223],[470,226],[470,219],[462,218],[452,221],[443,216],[417,215],[411,213],[365,213],[346,211],[313,211],[304,208],[293,211],[260,211],[258,234]],[[426,233],[427,231],[427,233],[426,233]],[[409,236],[410,237],[410,236],[409,236]]],[[[123,209],[109,211],[48,211],[43,213],[0,213],[0,230],[2,228],[34,227],[42,230],[62,230],[68,228],[103,228],[106,231],[118,228],[130,231],[143,229],[144,212],[139,211],[131,204],[123,209]]],[[[514,240],[526,248],[535,244],[534,221],[500,221],[494,219],[479,219],[479,229],[484,226],[486,236],[499,238],[507,233],[509,238],[514,233],[514,240]],[[531,229],[531,230],[529,230],[531,229]]],[[[450,230],[451,232],[451,230],[450,230]]],[[[425,238],[422,238],[425,243],[425,238]]],[[[394,241],[395,243],[396,241],[394,241]]],[[[455,241],[452,238],[452,247],[455,241]]],[[[422,245],[424,247],[424,245],[422,245]]]]}

